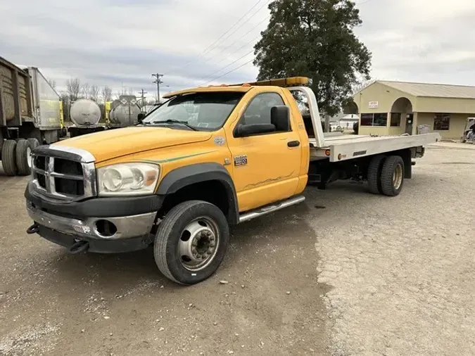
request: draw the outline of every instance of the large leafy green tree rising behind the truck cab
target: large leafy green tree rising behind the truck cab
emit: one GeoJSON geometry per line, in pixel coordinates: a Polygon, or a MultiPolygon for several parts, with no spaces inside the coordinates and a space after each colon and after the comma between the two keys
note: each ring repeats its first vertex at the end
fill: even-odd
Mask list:
{"type": "Polygon", "coordinates": [[[258,80],[307,76],[320,110],[335,115],[357,84],[369,80],[371,53],[353,33],[360,13],[350,0],[274,0],[255,44],[258,80]]]}

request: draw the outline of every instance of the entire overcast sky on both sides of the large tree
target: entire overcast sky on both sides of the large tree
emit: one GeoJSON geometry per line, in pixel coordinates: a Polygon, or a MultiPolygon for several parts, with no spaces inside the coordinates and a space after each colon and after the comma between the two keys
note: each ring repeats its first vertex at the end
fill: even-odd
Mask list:
{"type": "MultiPolygon", "coordinates": [[[[77,77],[152,97],[152,73],[164,75],[161,94],[246,82],[258,74],[253,45],[269,2],[3,0],[0,56],[38,67],[58,91],[77,77]]],[[[475,85],[474,0],[355,3],[363,22],[355,33],[372,52],[373,78],[475,85]]]]}

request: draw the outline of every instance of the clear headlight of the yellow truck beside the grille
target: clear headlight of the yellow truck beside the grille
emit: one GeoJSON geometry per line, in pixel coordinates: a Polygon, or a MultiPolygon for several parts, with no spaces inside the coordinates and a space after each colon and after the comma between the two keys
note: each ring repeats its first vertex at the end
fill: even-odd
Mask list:
{"type": "Polygon", "coordinates": [[[98,168],[99,196],[144,196],[151,194],[160,175],[153,163],[122,163],[98,168]]]}

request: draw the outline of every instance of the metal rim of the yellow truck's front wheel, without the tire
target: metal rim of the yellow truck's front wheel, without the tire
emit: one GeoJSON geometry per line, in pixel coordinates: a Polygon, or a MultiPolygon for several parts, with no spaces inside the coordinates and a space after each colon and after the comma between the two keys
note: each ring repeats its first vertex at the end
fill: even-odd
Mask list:
{"type": "Polygon", "coordinates": [[[200,271],[213,262],[219,246],[216,222],[209,217],[198,217],[182,231],[178,241],[179,260],[189,271],[200,271]]]}

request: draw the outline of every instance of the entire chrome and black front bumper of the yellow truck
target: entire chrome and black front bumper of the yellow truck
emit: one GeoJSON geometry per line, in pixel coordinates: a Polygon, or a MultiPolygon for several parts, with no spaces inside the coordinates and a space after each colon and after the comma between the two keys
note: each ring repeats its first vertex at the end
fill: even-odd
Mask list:
{"type": "MultiPolygon", "coordinates": [[[[86,250],[118,253],[141,250],[153,241],[161,198],[93,198],[82,202],[58,202],[42,198],[29,184],[26,208],[44,239],[71,248],[79,241],[86,250]]],[[[31,233],[31,231],[30,231],[31,233]]]]}

